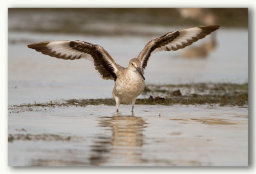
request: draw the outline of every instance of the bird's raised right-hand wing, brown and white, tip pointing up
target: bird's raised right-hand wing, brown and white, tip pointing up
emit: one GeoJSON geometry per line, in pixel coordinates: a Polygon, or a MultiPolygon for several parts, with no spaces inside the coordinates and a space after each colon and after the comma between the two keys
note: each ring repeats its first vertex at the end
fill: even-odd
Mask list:
{"type": "Polygon", "coordinates": [[[141,68],[147,66],[148,59],[152,52],[179,50],[211,34],[213,31],[216,31],[216,29],[219,29],[219,27],[220,25],[207,25],[182,29],[180,31],[172,31],[164,36],[149,41],[138,55],[141,68]]]}

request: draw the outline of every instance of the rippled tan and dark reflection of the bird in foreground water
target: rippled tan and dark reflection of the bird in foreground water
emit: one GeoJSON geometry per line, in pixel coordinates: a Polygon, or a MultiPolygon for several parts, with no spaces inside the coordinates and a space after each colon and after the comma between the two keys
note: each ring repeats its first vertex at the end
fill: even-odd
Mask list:
{"type": "Polygon", "coordinates": [[[143,146],[143,129],[147,127],[145,124],[147,122],[144,119],[135,117],[133,113],[100,117],[98,126],[104,127],[104,131],[93,141],[91,165],[99,166],[110,160],[122,161],[122,164],[127,165],[142,161],[140,147],[143,146]]]}

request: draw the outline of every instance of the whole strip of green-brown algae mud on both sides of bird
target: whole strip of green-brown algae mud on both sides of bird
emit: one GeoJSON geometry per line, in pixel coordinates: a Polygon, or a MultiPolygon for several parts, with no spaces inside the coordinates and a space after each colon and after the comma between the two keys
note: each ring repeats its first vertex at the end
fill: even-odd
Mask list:
{"type": "MultiPolygon", "coordinates": [[[[219,105],[219,106],[248,106],[248,83],[191,83],[179,85],[147,85],[142,94],[145,98],[136,100],[136,105],[219,105]],[[182,91],[182,92],[180,92],[182,91]],[[154,96],[154,97],[153,97],[154,96]],[[161,96],[161,97],[159,97],[161,96]]],[[[113,98],[104,99],[67,99],[14,105],[10,108],[25,107],[55,107],[55,106],[87,106],[87,105],[116,105],[113,98]]]]}

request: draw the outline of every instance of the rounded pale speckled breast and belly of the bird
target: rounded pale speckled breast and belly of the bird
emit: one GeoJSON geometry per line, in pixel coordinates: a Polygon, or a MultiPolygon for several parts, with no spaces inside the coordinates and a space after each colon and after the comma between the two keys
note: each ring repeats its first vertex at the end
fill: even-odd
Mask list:
{"type": "Polygon", "coordinates": [[[113,97],[120,99],[121,103],[131,103],[134,98],[144,91],[145,80],[136,72],[127,73],[116,79],[113,97]]]}

